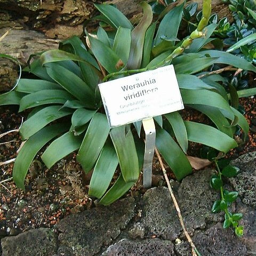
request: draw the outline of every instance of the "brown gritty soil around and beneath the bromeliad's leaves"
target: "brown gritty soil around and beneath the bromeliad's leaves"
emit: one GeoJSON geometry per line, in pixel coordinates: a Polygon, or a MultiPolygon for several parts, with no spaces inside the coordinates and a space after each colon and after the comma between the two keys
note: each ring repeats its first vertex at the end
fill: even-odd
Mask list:
{"type": "MultiPolygon", "coordinates": [[[[240,145],[229,153],[230,158],[256,150],[256,98],[242,98],[241,105],[250,124],[249,136],[246,142],[237,136],[240,145]]],[[[203,115],[193,111],[187,113],[187,119],[200,121],[202,118],[203,115]]],[[[2,134],[17,129],[22,122],[22,115],[17,113],[17,107],[4,106],[0,109],[0,120],[2,134]]],[[[21,145],[19,133],[9,133],[1,138],[0,143],[0,162],[15,158],[21,145]]],[[[190,143],[189,155],[199,156],[200,148],[200,145],[190,143]]],[[[17,235],[32,228],[53,227],[66,215],[93,206],[92,199],[87,195],[89,178],[85,177],[76,162],[76,153],[62,159],[50,170],[46,169],[38,154],[26,177],[26,191],[17,188],[12,180],[4,182],[12,177],[12,168],[13,163],[10,163],[2,165],[0,169],[1,237],[17,235]]],[[[163,182],[157,161],[154,161],[153,172],[153,183],[157,186],[163,182]]],[[[140,190],[140,193],[145,191],[141,189],[140,183],[135,186],[132,194],[134,190],[140,190]]]]}

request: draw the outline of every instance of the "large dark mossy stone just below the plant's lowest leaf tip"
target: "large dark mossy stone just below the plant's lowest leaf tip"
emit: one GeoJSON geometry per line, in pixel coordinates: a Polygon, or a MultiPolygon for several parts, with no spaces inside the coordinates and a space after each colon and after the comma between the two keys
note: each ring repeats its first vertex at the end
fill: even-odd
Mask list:
{"type": "Polygon", "coordinates": [[[99,206],[69,216],[57,225],[58,253],[90,256],[109,245],[134,215],[134,199],[125,198],[109,206],[99,206]]]}

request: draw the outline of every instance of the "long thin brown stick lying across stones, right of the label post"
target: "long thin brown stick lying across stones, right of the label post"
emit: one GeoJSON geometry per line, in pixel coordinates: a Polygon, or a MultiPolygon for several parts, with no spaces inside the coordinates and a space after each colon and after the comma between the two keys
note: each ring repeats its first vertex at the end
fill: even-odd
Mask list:
{"type": "Polygon", "coordinates": [[[171,197],[172,197],[172,201],[173,201],[174,206],[175,206],[175,209],[176,209],[176,211],[177,211],[177,213],[178,213],[180,225],[181,225],[181,227],[182,227],[182,229],[183,229],[183,232],[184,232],[185,236],[187,237],[187,240],[188,240],[188,242],[189,242],[189,244],[190,244],[190,246],[191,246],[192,255],[193,255],[193,256],[197,256],[197,255],[198,255],[198,254],[197,254],[198,251],[197,251],[196,246],[195,246],[195,244],[193,243],[193,241],[192,241],[190,235],[188,234],[188,231],[187,231],[187,229],[186,229],[186,227],[185,227],[185,225],[184,225],[183,218],[182,218],[182,215],[181,215],[181,212],[180,212],[180,207],[179,207],[178,202],[177,202],[177,200],[176,200],[176,198],[175,198],[175,196],[174,196],[174,194],[173,194],[173,190],[172,190],[170,181],[169,181],[169,179],[168,179],[168,177],[167,177],[166,170],[165,170],[165,167],[164,167],[162,158],[161,158],[161,156],[160,156],[160,154],[159,154],[157,148],[155,148],[155,151],[156,151],[156,155],[157,155],[159,164],[160,164],[160,166],[161,166],[161,168],[162,168],[162,171],[163,171],[163,174],[164,174],[164,178],[165,178],[165,180],[166,180],[166,182],[167,182],[167,186],[168,186],[170,195],[171,195],[171,197]]]}

